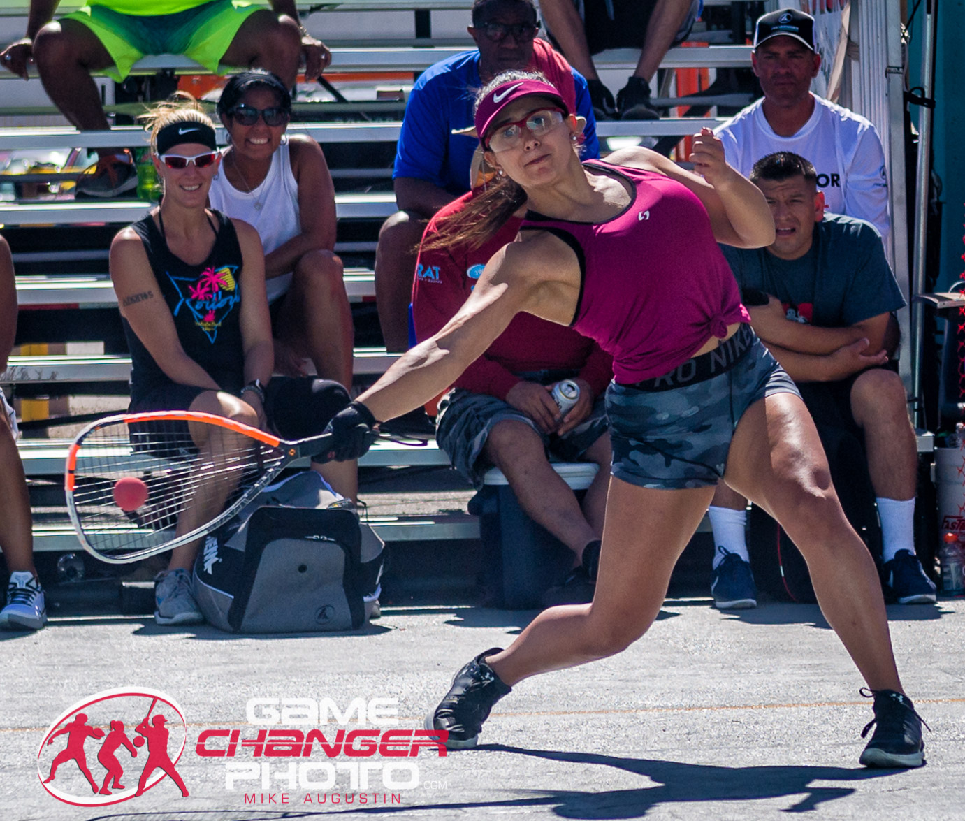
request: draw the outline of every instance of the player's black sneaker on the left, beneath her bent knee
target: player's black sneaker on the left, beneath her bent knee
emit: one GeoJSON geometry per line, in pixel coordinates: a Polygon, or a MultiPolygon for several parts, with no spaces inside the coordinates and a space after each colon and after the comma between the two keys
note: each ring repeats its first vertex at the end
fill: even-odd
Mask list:
{"type": "Polygon", "coordinates": [[[439,702],[432,715],[427,716],[426,729],[449,730],[449,738],[444,742],[448,750],[475,747],[492,705],[512,692],[512,688],[500,681],[495,670],[483,661],[486,656],[502,651],[502,647],[491,647],[455,673],[446,698],[439,702]]]}

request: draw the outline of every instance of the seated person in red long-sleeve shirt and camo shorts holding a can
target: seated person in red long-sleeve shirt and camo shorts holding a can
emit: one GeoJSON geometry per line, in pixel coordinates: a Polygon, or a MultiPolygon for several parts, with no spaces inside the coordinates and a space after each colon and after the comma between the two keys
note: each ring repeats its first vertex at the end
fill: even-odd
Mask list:
{"type": "MultiPolygon", "coordinates": [[[[417,339],[427,339],[455,315],[485,263],[519,229],[517,214],[479,248],[431,248],[440,223],[472,196],[443,206],[423,237],[412,289],[417,339]]],[[[547,591],[547,606],[593,598],[611,457],[603,391],[612,377],[613,359],[595,342],[520,314],[439,403],[436,441],[455,469],[478,489],[485,471],[498,467],[527,515],[573,551],[574,570],[562,586],[547,591]],[[566,378],[580,386],[580,397],[563,416],[550,392],[566,378]],[[547,452],[599,466],[582,506],[547,452]]]]}

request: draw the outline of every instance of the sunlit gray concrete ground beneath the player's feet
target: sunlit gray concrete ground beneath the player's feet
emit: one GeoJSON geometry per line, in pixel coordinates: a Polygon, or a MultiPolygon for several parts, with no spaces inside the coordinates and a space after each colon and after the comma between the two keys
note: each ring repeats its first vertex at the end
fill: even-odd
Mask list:
{"type": "MultiPolygon", "coordinates": [[[[440,757],[424,749],[409,758],[326,758],[317,747],[310,757],[256,758],[243,742],[257,741],[259,730],[310,727],[294,723],[307,715],[304,703],[274,727],[248,724],[246,705],[251,698],[327,698],[345,710],[353,699],[398,699],[396,726],[419,727],[455,670],[511,642],[533,613],[387,608],[360,633],[299,637],[158,628],[142,616],[57,617],[40,633],[0,640],[0,818],[965,817],[965,600],[889,613],[905,687],[932,729],[927,766],[916,771],[858,765],[869,702],[858,694],[861,680],[841,644],[808,605],[723,614],[705,599],[668,600],[649,635],[619,657],[519,684],[497,705],[477,750],[440,757]],[[186,730],[165,712],[171,750],[186,732],[177,771],[187,798],[167,778],[105,807],[70,806],[41,786],[39,769],[45,777],[53,754],[67,745],[66,736],[54,739],[39,760],[48,726],[72,705],[117,687],[159,690],[179,703],[186,730]],[[240,730],[234,758],[196,752],[206,728],[224,732],[207,742],[222,750],[230,731],[240,730]],[[266,772],[252,770],[259,762],[266,772]],[[349,765],[359,762],[369,765],[362,768],[367,788],[351,783],[349,765]],[[329,772],[327,764],[336,766],[329,772]],[[298,765],[304,783],[315,786],[299,784],[298,765]],[[229,786],[234,772],[253,778],[229,786]]],[[[85,709],[92,724],[122,718],[133,735],[146,704],[129,697],[85,709]]],[[[339,726],[321,729],[331,741],[339,726]]],[[[99,784],[106,770],[98,747],[87,741],[99,784]]],[[[128,794],[144,754],[118,753],[130,770],[128,794]]],[[[74,761],[61,765],[53,785],[74,800],[92,795],[74,761]]]]}

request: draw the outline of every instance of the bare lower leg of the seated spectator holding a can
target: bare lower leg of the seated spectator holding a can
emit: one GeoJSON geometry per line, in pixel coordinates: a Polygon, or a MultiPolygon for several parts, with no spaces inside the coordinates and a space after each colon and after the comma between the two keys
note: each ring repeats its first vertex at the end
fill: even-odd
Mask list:
{"type": "Polygon", "coordinates": [[[587,543],[597,538],[576,496],[546,459],[542,439],[528,424],[506,420],[493,425],[486,457],[510,481],[519,506],[575,554],[578,564],[587,543]]]}

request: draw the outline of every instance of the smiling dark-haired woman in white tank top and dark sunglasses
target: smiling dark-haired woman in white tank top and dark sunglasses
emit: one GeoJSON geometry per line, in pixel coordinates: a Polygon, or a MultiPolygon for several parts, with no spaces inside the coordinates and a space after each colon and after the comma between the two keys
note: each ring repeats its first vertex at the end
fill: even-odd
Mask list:
{"type": "MultiPolygon", "coordinates": [[[[287,134],[291,96],[261,68],[235,74],[221,92],[218,117],[228,131],[211,207],[255,227],[264,248],[264,279],[275,344],[275,370],[352,382],[351,309],[335,248],[335,186],[317,142],[287,134]]],[[[354,499],[354,464],[323,471],[354,499]]]]}

